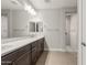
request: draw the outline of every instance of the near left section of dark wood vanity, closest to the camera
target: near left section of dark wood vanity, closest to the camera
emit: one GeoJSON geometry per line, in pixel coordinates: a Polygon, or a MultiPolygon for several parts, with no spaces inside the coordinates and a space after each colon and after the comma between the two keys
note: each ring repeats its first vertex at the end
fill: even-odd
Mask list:
{"type": "Polygon", "coordinates": [[[1,65],[31,65],[31,44],[1,56],[1,65]]]}

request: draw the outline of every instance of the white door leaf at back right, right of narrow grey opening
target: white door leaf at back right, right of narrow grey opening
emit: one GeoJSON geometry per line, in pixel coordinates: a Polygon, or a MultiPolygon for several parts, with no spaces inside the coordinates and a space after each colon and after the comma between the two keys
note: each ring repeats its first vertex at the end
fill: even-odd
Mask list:
{"type": "Polygon", "coordinates": [[[70,47],[73,52],[77,52],[78,43],[77,43],[77,25],[78,25],[78,17],[77,13],[73,13],[70,17],[70,47]]]}

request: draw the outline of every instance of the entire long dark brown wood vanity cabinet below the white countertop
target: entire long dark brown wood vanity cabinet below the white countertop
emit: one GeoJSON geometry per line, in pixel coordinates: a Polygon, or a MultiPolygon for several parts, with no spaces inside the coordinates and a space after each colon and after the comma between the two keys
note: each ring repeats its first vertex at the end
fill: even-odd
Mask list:
{"type": "Polygon", "coordinates": [[[44,51],[44,37],[33,40],[1,56],[1,65],[35,65],[44,51]]]}

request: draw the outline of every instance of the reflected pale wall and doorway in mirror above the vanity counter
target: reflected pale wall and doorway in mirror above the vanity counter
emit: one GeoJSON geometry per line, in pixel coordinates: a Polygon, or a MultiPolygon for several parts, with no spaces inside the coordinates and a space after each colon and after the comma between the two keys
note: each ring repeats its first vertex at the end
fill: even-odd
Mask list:
{"type": "Polygon", "coordinates": [[[20,37],[28,35],[28,22],[30,15],[24,10],[2,10],[2,39],[20,37]],[[7,12],[7,13],[6,13],[7,12]]]}

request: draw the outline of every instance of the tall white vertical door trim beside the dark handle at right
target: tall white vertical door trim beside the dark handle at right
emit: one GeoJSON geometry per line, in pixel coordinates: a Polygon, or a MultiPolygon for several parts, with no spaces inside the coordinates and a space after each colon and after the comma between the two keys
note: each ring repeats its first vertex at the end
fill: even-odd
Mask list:
{"type": "Polygon", "coordinates": [[[83,21],[83,0],[77,0],[78,2],[78,54],[77,54],[77,65],[81,64],[81,21],[83,21]]]}

